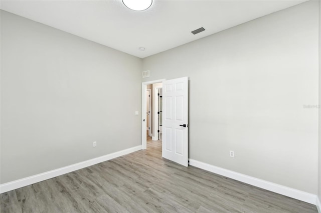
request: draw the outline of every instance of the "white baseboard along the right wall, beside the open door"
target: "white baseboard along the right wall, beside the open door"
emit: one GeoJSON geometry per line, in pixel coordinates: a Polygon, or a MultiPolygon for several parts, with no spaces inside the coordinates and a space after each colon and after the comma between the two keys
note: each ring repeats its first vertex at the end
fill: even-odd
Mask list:
{"type": "MultiPolygon", "coordinates": [[[[241,173],[231,171],[231,170],[228,170],[225,168],[217,167],[215,165],[211,165],[211,164],[201,162],[198,160],[189,159],[189,161],[190,161],[189,164],[193,165],[195,167],[199,167],[199,168],[202,168],[207,171],[211,171],[211,172],[214,172],[214,173],[217,173],[217,174],[220,174],[220,175],[223,175],[223,176],[235,179],[235,180],[239,180],[241,182],[245,182],[245,183],[260,187],[260,188],[264,188],[269,191],[273,191],[273,192],[276,192],[276,193],[279,193],[279,194],[282,194],[285,196],[289,196],[289,197],[316,205],[316,203],[315,203],[316,198],[317,198],[316,194],[307,193],[305,191],[300,191],[300,190],[290,188],[290,187],[287,187],[284,185],[279,185],[279,184],[276,184],[273,182],[258,179],[258,178],[252,177],[252,176],[241,174],[241,173]]],[[[319,213],[321,213],[321,212],[319,211],[319,213]]]]}

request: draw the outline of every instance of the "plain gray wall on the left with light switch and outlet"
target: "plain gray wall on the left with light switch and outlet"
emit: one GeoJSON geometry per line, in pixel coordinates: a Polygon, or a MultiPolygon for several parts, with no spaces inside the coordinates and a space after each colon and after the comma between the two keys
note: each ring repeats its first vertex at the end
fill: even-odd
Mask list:
{"type": "Polygon", "coordinates": [[[141,70],[140,58],[1,10],[1,183],[140,145],[141,70]]]}

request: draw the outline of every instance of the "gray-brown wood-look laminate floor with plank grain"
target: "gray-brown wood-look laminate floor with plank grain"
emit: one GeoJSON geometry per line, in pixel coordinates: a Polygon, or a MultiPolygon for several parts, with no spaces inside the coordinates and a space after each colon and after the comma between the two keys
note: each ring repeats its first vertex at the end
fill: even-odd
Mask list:
{"type": "Polygon", "coordinates": [[[162,158],[162,144],[1,194],[1,212],[317,212],[312,204],[162,158]]]}

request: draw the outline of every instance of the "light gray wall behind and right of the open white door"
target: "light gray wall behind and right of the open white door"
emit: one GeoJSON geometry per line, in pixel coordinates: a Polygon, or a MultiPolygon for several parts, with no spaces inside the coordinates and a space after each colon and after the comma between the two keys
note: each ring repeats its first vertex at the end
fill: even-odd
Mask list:
{"type": "Polygon", "coordinates": [[[146,81],[190,77],[190,158],[317,193],[317,15],[309,1],[143,59],[146,81]]]}

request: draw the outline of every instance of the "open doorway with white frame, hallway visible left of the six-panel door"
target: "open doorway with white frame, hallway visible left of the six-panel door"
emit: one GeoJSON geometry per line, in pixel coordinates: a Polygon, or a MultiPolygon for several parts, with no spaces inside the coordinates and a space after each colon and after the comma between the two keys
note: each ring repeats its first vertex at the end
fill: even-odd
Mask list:
{"type": "Polygon", "coordinates": [[[163,80],[147,81],[142,83],[142,149],[147,148],[147,139],[162,139],[162,84],[163,80]],[[161,90],[159,90],[161,89],[161,90]],[[159,93],[161,91],[161,93],[159,93]],[[149,96],[148,96],[149,92],[149,96]],[[158,95],[159,93],[159,95],[158,95]],[[150,98],[150,102],[147,103],[150,98]],[[159,99],[161,98],[161,99],[159,99]],[[149,107],[149,110],[147,109],[149,107]],[[150,119],[149,119],[150,117],[150,119]],[[148,122],[148,127],[147,127],[148,122]]]}

